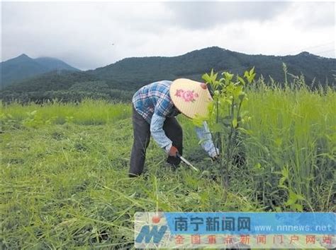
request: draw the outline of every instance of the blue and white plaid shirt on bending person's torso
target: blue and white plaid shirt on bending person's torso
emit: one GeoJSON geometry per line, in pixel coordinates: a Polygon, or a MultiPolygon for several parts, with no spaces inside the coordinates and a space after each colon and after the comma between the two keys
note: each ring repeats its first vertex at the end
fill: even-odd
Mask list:
{"type": "Polygon", "coordinates": [[[173,117],[179,114],[169,95],[172,81],[158,81],[143,86],[133,95],[135,110],[150,124],[153,114],[173,117]]]}

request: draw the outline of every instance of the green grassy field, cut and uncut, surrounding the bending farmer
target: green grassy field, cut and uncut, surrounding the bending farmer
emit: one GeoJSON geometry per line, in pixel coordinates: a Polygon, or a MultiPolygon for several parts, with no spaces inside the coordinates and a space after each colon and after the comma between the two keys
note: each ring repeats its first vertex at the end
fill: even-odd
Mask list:
{"type": "Polygon", "coordinates": [[[1,247],[132,247],[136,211],[335,211],[335,91],[248,95],[246,162],[227,196],[184,117],[184,155],[201,171],[169,169],[151,141],[145,173],[128,179],[130,105],[1,105],[1,247]]]}

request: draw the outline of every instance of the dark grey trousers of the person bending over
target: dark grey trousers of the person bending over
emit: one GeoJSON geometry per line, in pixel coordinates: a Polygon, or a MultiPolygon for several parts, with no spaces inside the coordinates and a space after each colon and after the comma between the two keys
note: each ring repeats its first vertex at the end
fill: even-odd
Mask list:
{"type": "MultiPolygon", "coordinates": [[[[136,177],[142,173],[145,165],[146,149],[150,143],[150,124],[140,116],[133,107],[133,148],[130,155],[129,177],[136,177]]],[[[179,122],[175,117],[166,117],[163,125],[164,133],[172,141],[180,155],[182,155],[183,133],[179,122]]],[[[167,162],[179,165],[181,160],[174,156],[168,156],[167,162]]]]}

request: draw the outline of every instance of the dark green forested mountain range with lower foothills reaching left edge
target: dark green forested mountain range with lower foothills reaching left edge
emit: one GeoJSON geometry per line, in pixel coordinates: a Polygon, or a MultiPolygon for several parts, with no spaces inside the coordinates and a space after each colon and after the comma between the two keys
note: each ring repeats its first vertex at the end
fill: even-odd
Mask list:
{"type": "Polygon", "coordinates": [[[27,78],[4,88],[1,98],[8,101],[43,100],[52,97],[79,100],[76,96],[129,100],[142,85],[162,79],[192,78],[201,81],[203,73],[231,71],[243,73],[255,67],[258,76],[284,82],[283,62],[289,73],[305,76],[306,83],[335,85],[336,59],[302,52],[295,56],[248,55],[219,47],[200,49],[181,56],[133,57],[84,72],[52,71],[27,78]],[[315,79],[315,80],[313,80],[315,79]],[[91,87],[90,85],[96,85],[91,87]],[[24,96],[23,98],[21,98],[24,96]]]}

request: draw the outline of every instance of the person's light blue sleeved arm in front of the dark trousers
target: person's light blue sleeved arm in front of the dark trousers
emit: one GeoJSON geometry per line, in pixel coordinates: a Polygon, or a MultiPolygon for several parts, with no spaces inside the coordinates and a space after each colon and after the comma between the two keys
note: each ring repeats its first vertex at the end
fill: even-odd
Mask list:
{"type": "Polygon", "coordinates": [[[161,117],[154,113],[152,116],[152,121],[150,121],[150,133],[152,134],[152,137],[157,145],[169,153],[170,148],[172,148],[172,141],[166,136],[163,130],[165,119],[166,117],[161,117]]]}

